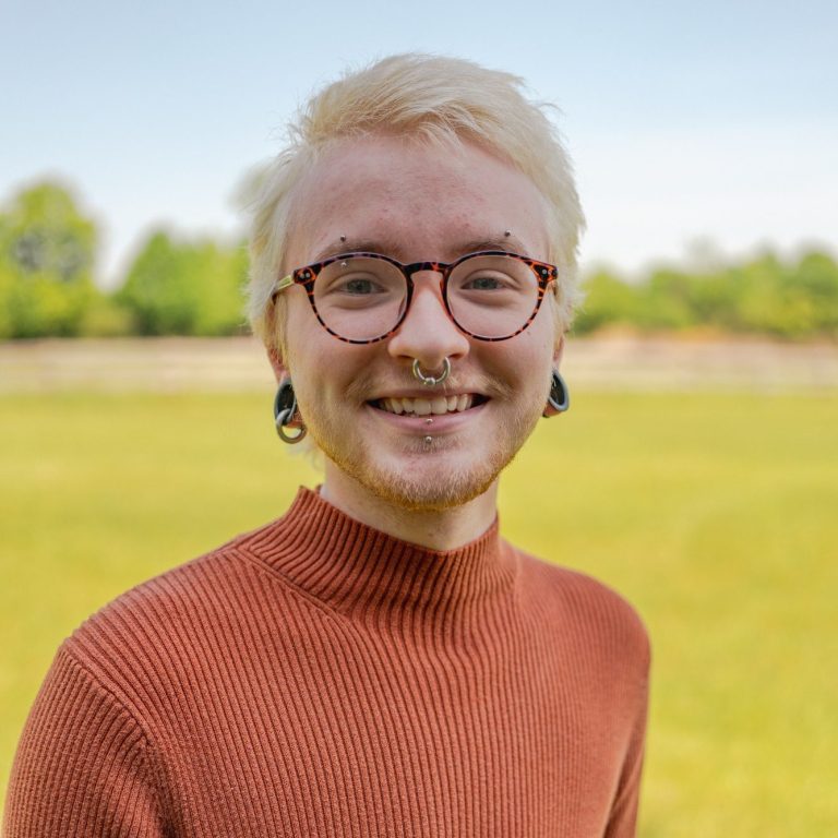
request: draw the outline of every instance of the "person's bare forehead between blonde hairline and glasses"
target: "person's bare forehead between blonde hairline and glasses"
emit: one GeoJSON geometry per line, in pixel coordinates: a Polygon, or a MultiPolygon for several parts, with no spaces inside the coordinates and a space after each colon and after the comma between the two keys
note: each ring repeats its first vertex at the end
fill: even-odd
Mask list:
{"type": "Polygon", "coordinates": [[[346,236],[404,261],[451,260],[508,229],[513,249],[547,259],[544,217],[529,178],[477,145],[364,136],[333,145],[301,179],[287,258],[312,262],[346,236]]]}

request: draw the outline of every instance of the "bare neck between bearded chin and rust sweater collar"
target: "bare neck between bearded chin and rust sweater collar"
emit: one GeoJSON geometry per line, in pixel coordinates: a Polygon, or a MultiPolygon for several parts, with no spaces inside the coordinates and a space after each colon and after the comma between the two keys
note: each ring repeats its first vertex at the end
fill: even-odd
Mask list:
{"type": "Polygon", "coordinates": [[[455,550],[492,526],[498,510],[498,481],[477,498],[446,510],[406,510],[383,499],[326,458],[323,500],[356,520],[390,536],[431,550],[455,550]]]}

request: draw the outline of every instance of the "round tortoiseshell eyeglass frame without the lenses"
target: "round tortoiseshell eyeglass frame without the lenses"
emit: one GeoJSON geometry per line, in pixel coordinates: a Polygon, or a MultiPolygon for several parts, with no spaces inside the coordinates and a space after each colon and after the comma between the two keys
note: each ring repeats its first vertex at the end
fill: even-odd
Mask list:
{"type": "Polygon", "coordinates": [[[460,332],[463,332],[463,334],[468,335],[469,337],[474,337],[476,340],[487,340],[492,343],[499,340],[508,340],[510,338],[515,337],[516,335],[519,335],[522,332],[524,332],[524,330],[526,330],[527,326],[529,326],[529,324],[536,319],[536,314],[538,314],[538,310],[541,308],[541,301],[544,299],[544,295],[547,294],[547,289],[550,287],[550,284],[554,283],[559,277],[559,268],[555,265],[551,265],[549,262],[539,262],[538,260],[530,259],[529,256],[522,256],[519,253],[510,253],[506,250],[479,250],[475,253],[466,253],[455,262],[411,262],[408,265],[399,262],[396,259],[393,259],[392,256],[385,256],[382,253],[355,251],[350,253],[338,253],[337,255],[330,256],[322,262],[314,262],[311,265],[303,265],[302,267],[296,268],[287,276],[284,276],[282,279],[277,279],[274,284],[274,287],[271,289],[271,302],[275,302],[276,296],[280,291],[284,291],[286,288],[290,288],[292,285],[301,285],[306,289],[306,294],[309,298],[309,302],[311,303],[311,309],[314,312],[314,316],[318,319],[320,325],[323,326],[323,328],[325,328],[330,335],[336,337],[338,340],[343,340],[346,344],[375,344],[379,340],[386,340],[386,338],[395,334],[399,326],[405,322],[407,312],[410,311],[410,302],[414,299],[414,274],[418,274],[421,271],[432,271],[434,273],[442,274],[440,279],[440,291],[442,292],[442,301],[445,303],[445,311],[448,318],[451,318],[452,323],[454,323],[454,325],[460,332]],[[469,332],[467,328],[464,328],[457,322],[457,319],[454,316],[454,313],[451,310],[451,306],[448,304],[448,277],[451,276],[454,268],[458,267],[467,260],[474,259],[475,256],[507,256],[508,259],[523,262],[527,267],[529,267],[530,271],[532,271],[536,280],[538,282],[538,296],[536,298],[536,304],[532,308],[532,312],[527,318],[524,325],[520,326],[520,328],[517,331],[513,332],[511,335],[504,335],[503,337],[486,337],[484,335],[476,335],[474,332],[469,332]],[[394,265],[402,272],[402,275],[405,277],[405,283],[407,285],[405,310],[402,312],[402,316],[398,319],[398,322],[393,326],[393,328],[391,328],[388,332],[385,332],[383,335],[364,338],[362,340],[358,338],[344,337],[343,335],[337,334],[337,332],[334,330],[330,328],[323,322],[323,318],[320,316],[316,303],[314,302],[314,283],[323,268],[328,267],[328,265],[334,264],[335,262],[339,262],[344,259],[360,258],[380,259],[382,262],[387,262],[391,265],[394,265]]]}

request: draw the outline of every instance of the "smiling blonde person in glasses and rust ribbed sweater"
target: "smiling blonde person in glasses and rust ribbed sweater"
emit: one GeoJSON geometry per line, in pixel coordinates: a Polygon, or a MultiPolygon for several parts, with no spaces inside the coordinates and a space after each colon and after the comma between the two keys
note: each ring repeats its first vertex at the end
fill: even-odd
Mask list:
{"type": "Polygon", "coordinates": [[[394,56],[308,103],[254,200],[249,304],[323,483],[64,642],[8,838],[634,835],[644,626],[496,517],[568,404],[582,225],[515,76],[394,56]]]}

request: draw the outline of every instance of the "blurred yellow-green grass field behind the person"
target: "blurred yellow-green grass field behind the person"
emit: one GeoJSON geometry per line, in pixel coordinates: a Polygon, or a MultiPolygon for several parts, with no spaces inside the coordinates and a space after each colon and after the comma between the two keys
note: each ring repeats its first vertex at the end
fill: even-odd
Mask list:
{"type": "MultiPolygon", "coordinates": [[[[270,396],[0,399],[0,794],[56,647],[318,475],[270,396]]],[[[576,393],[505,475],[505,535],[653,637],[644,838],[838,835],[838,395],[576,393]]]]}

